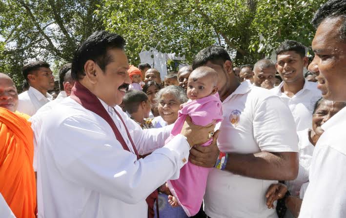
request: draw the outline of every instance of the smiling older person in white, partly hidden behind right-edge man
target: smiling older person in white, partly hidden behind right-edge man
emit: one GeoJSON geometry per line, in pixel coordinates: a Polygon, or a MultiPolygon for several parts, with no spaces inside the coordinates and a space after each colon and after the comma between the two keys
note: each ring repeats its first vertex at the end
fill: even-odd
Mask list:
{"type": "Polygon", "coordinates": [[[302,194],[305,192],[306,183],[309,181],[309,168],[313,150],[317,140],[320,139],[324,132],[321,126],[345,106],[346,103],[344,102],[329,101],[322,98],[315,103],[312,115],[312,129],[297,132],[299,139],[298,177],[294,180],[285,181],[285,184],[277,183],[269,187],[266,194],[268,208],[274,208],[274,200],[284,198],[286,194],[285,205],[288,210],[285,216],[282,217],[292,218],[299,216],[304,197],[302,194]],[[287,190],[290,196],[287,196],[287,190]]]}

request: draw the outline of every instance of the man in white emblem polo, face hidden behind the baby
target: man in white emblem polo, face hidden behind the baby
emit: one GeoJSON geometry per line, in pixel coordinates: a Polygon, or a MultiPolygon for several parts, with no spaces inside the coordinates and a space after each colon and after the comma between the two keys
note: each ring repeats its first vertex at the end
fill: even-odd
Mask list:
{"type": "MultiPolygon", "coordinates": [[[[204,211],[211,218],[275,218],[268,209],[265,192],[278,180],[298,174],[298,140],[293,117],[287,106],[269,90],[239,84],[232,62],[220,46],[200,51],[193,68],[208,66],[218,72],[224,120],[218,147],[228,154],[225,169],[213,169],[207,180],[204,211]]],[[[213,167],[217,146],[191,149],[191,163],[213,167]],[[203,153],[201,153],[203,152],[203,153]]]]}

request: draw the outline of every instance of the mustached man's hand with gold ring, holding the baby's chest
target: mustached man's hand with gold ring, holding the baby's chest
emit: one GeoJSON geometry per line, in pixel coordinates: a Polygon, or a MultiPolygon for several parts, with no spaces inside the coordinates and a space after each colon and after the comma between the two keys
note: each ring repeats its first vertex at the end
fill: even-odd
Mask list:
{"type": "Polygon", "coordinates": [[[198,126],[193,124],[191,118],[187,116],[181,134],[187,138],[187,142],[192,147],[207,142],[209,133],[214,132],[214,128],[215,121],[207,126],[198,126]]]}

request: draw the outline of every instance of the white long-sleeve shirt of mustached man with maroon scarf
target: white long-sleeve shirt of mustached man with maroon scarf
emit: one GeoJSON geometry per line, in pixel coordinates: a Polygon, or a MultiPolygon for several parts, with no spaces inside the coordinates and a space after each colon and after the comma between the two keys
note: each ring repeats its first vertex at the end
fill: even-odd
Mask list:
{"type": "Polygon", "coordinates": [[[153,152],[137,160],[121,120],[102,104],[131,152],[104,119],[73,99],[62,100],[42,118],[37,139],[40,218],[146,218],[145,198],[179,178],[189,155],[182,135],[163,146],[171,126],[142,130],[117,106],[138,153],[153,152]]]}

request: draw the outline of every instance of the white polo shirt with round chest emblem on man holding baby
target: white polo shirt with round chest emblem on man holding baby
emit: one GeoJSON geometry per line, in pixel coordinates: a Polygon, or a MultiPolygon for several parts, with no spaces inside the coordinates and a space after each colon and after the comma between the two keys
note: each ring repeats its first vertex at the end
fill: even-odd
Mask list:
{"type": "MultiPolygon", "coordinates": [[[[223,101],[223,152],[298,152],[295,124],[287,106],[269,90],[244,81],[223,101]]],[[[265,170],[265,169],[263,169],[265,170]]],[[[276,218],[265,205],[265,192],[277,183],[212,169],[204,195],[204,211],[211,218],[276,218]]]]}

